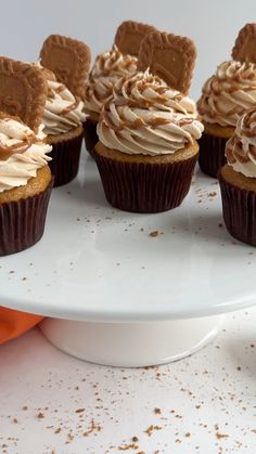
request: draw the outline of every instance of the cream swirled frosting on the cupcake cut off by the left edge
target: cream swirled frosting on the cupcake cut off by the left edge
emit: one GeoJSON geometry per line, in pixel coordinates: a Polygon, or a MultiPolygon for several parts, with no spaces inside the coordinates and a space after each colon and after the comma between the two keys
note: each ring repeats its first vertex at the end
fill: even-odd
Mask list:
{"type": "Polygon", "coordinates": [[[0,114],[0,192],[24,186],[51,158],[43,125],[35,134],[18,119],[0,114]]]}

